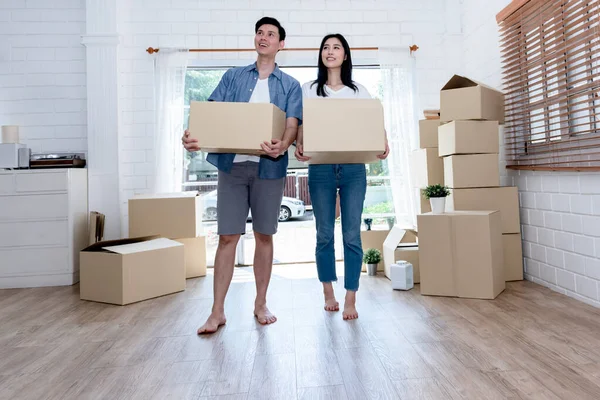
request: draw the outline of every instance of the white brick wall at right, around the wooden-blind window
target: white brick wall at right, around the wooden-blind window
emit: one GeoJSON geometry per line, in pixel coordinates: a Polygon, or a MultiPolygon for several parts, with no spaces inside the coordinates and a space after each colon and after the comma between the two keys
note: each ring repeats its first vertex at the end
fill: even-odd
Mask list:
{"type": "MultiPolygon", "coordinates": [[[[502,87],[496,14],[510,0],[463,0],[467,76],[502,87]]],[[[526,278],[600,307],[600,175],[504,171],[519,187],[526,278]]]]}

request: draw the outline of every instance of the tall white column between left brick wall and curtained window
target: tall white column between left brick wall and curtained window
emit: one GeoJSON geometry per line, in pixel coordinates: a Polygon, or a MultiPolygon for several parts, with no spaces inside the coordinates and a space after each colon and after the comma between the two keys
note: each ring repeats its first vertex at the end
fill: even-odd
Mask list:
{"type": "Polygon", "coordinates": [[[86,1],[88,196],[106,215],[105,239],[121,237],[117,0],[86,1]]]}

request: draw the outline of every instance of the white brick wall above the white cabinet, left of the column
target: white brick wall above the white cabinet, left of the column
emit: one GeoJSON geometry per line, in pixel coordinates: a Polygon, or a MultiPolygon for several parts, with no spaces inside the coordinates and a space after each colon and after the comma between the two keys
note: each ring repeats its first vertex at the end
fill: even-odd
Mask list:
{"type": "Polygon", "coordinates": [[[87,151],[83,0],[0,1],[0,125],[33,152],[87,151]]]}

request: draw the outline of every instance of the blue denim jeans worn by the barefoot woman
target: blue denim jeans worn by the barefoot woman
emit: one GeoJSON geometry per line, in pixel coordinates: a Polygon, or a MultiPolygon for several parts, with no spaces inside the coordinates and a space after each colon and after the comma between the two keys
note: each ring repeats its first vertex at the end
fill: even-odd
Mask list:
{"type": "Polygon", "coordinates": [[[360,225],[367,192],[364,164],[312,164],[308,188],[317,225],[315,252],[321,282],[337,280],[335,272],[335,202],[339,190],[344,242],[344,287],[357,291],[362,269],[360,225]]]}

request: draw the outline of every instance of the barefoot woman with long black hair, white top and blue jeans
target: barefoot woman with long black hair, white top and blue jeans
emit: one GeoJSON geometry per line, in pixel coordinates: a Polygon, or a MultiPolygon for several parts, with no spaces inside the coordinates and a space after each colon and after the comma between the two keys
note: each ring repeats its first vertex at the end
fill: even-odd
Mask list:
{"type": "MultiPolygon", "coordinates": [[[[352,57],[350,46],[340,34],[327,35],[319,50],[319,72],[317,79],[302,86],[304,99],[316,97],[372,98],[367,89],[352,80],[352,57]]],[[[365,135],[370,132],[365,132],[365,135]]],[[[308,161],[303,154],[302,127],[298,131],[296,158],[308,161]]],[[[389,148],[378,157],[385,159],[389,148]]],[[[344,288],[346,298],[343,317],[345,320],[358,318],[356,292],[362,269],[362,243],[360,239],[361,215],[367,191],[367,176],[364,164],[318,164],[308,167],[308,187],[317,226],[316,261],[319,280],[323,283],[325,309],[339,311],[332,282],[337,280],[335,272],[334,229],[336,197],[339,191],[344,241],[344,288]]]]}

